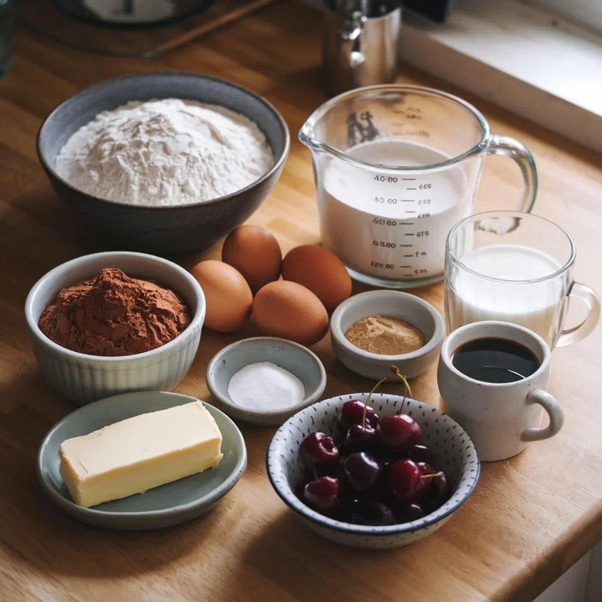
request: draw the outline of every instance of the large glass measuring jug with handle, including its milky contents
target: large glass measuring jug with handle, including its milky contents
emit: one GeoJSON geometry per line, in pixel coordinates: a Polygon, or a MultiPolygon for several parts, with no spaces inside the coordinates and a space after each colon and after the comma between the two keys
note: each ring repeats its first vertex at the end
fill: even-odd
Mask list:
{"type": "Polygon", "coordinates": [[[456,96],[414,85],[373,85],[330,99],[299,140],[312,154],[321,238],[353,278],[413,288],[443,276],[445,238],[473,213],[487,154],[514,159],[537,190],[523,144],[491,134],[485,117],[456,96]]]}

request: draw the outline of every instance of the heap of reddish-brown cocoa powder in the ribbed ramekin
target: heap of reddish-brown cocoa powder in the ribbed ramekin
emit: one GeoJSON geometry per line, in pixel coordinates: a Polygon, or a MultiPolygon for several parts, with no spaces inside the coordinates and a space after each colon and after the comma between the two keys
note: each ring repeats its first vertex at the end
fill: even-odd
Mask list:
{"type": "Polygon", "coordinates": [[[63,288],[39,320],[40,330],[61,347],[102,356],[156,349],[188,324],[190,313],[176,293],[118,268],[63,288]]]}

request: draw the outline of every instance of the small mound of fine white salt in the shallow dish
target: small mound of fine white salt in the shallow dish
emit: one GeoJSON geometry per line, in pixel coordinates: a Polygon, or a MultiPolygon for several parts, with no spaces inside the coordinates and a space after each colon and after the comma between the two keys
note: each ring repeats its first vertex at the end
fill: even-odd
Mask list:
{"type": "Polygon", "coordinates": [[[247,410],[280,411],[301,403],[305,386],[288,370],[270,362],[258,362],[232,376],[228,395],[232,403],[247,410]]]}

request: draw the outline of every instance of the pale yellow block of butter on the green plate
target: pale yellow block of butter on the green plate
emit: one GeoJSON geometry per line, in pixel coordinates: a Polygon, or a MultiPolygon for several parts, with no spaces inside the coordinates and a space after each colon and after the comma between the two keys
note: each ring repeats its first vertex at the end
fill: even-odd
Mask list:
{"type": "Polygon", "coordinates": [[[122,420],[61,443],[61,475],[89,508],[171,483],[223,458],[222,433],[200,402],[122,420]]]}

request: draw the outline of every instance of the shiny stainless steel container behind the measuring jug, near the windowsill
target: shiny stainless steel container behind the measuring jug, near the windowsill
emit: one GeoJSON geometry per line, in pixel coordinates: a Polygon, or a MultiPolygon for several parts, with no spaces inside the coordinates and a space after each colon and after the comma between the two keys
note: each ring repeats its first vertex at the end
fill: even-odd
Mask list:
{"type": "Polygon", "coordinates": [[[326,9],[322,81],[327,92],[393,82],[400,0],[329,0],[326,9]]]}

